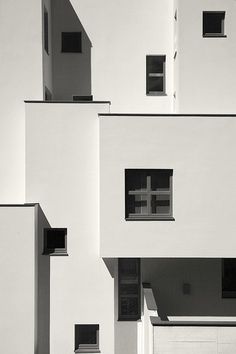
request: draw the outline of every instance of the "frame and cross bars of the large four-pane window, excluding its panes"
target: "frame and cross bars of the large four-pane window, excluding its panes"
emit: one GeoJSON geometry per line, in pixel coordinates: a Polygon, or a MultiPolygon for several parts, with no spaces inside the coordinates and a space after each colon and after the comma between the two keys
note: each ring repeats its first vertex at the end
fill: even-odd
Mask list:
{"type": "Polygon", "coordinates": [[[173,217],[173,169],[125,169],[125,219],[127,221],[174,221],[173,217]],[[128,189],[128,183],[127,183],[127,178],[128,174],[132,171],[132,173],[141,173],[141,172],[146,172],[146,177],[147,177],[147,190],[140,191],[140,190],[129,190],[128,189]],[[151,174],[153,172],[159,173],[169,173],[169,191],[152,191],[151,190],[151,177],[148,176],[148,174],[151,174]],[[129,195],[146,195],[147,196],[147,209],[148,213],[147,214],[135,214],[135,213],[128,213],[128,196],[129,195]],[[170,197],[170,210],[168,214],[154,214],[151,213],[151,197],[152,195],[169,195],[170,197]]]}

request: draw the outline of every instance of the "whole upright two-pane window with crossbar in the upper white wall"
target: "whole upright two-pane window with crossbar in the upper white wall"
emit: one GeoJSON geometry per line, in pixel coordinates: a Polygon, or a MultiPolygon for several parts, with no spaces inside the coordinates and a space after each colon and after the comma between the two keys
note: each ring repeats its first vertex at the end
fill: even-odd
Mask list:
{"type": "Polygon", "coordinates": [[[165,94],[165,55],[146,57],[146,94],[165,94]]]}

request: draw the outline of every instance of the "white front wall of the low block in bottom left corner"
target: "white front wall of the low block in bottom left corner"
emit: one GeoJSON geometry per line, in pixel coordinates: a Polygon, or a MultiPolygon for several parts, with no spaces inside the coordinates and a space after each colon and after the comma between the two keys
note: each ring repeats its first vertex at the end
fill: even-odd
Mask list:
{"type": "Polygon", "coordinates": [[[35,332],[35,208],[0,207],[0,352],[32,354],[35,332]]]}

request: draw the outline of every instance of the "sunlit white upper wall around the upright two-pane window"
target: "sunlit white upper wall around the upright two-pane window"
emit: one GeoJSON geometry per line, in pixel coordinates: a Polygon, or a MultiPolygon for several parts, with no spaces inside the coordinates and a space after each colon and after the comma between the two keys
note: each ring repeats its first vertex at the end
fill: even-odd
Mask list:
{"type": "Polygon", "coordinates": [[[173,0],[71,0],[92,42],[92,93],[113,112],[171,112],[173,0]],[[146,55],[166,55],[167,96],[146,96],[146,55]]]}

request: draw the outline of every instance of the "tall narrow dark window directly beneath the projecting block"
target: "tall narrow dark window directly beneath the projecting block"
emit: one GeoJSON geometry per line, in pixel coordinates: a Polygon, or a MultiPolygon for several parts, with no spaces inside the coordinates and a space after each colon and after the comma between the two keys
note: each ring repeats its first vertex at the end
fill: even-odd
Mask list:
{"type": "Polygon", "coordinates": [[[137,321],[141,316],[140,259],[120,258],[119,273],[119,320],[137,321]]]}

